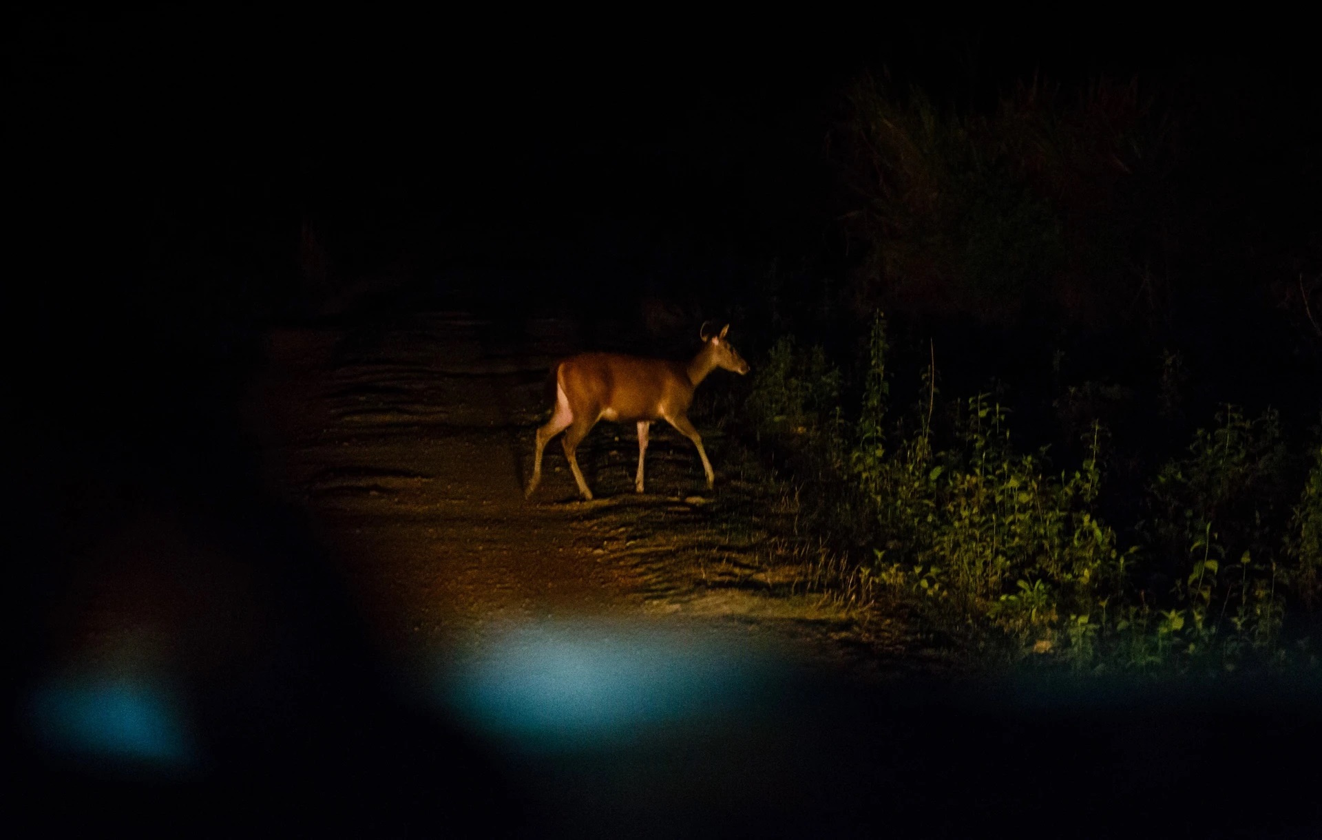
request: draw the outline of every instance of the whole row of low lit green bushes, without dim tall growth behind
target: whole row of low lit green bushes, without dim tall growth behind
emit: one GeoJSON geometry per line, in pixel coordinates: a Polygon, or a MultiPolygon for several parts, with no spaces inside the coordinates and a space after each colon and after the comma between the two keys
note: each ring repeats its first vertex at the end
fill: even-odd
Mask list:
{"type": "MultiPolygon", "coordinates": [[[[1025,454],[989,394],[924,399],[888,415],[886,321],[873,324],[858,418],[849,435],[839,373],[820,349],[781,340],[748,407],[759,429],[805,455],[822,504],[812,523],[869,549],[863,579],[932,627],[1010,659],[1076,669],[1233,669],[1286,657],[1288,595],[1311,605],[1322,566],[1322,450],[1286,508],[1289,458],[1273,411],[1225,406],[1149,484],[1149,516],[1122,545],[1103,520],[1103,448],[1093,421],[1077,468],[1025,454]],[[906,422],[906,419],[908,422],[906,422]],[[851,438],[851,441],[850,441],[851,438]],[[826,468],[824,468],[824,466],[826,468]],[[830,516],[833,508],[836,516],[830,516]],[[1289,526],[1289,537],[1278,534],[1289,526]]],[[[824,541],[830,541],[824,533],[824,541]]]]}

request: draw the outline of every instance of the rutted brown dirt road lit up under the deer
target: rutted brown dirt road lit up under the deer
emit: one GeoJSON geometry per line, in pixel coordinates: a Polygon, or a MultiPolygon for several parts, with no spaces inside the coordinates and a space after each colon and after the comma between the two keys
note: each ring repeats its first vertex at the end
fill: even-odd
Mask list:
{"type": "Polygon", "coordinates": [[[636,495],[633,430],[602,423],[579,454],[599,499],[576,500],[553,443],[525,501],[546,372],[579,347],[572,324],[434,312],[271,341],[254,401],[270,480],[307,509],[391,652],[584,614],[717,618],[832,655],[855,639],[837,606],[793,593],[801,569],[773,550],[792,511],[744,480],[719,435],[706,438],[715,491],[665,429],[636,495]]]}

